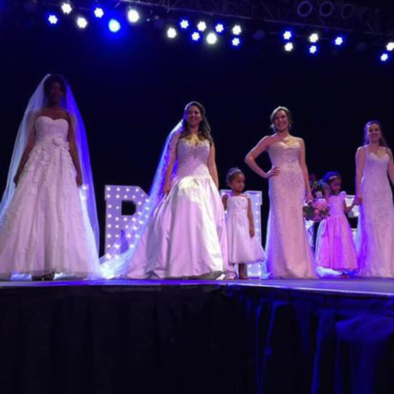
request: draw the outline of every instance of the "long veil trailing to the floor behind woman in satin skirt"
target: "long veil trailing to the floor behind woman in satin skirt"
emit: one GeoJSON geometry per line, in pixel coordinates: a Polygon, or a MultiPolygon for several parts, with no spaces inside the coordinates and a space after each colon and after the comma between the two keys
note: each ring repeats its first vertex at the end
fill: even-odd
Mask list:
{"type": "MultiPolygon", "coordinates": [[[[133,257],[136,247],[141,240],[141,236],[151,219],[152,213],[164,197],[163,187],[171,152],[176,149],[176,144],[182,129],[183,126],[181,120],[167,136],[160,157],[159,165],[157,166],[156,173],[149,190],[149,198],[146,200],[145,204],[140,210],[140,213],[143,212],[143,214],[141,214],[141,218],[138,221],[138,226],[135,225],[135,218],[132,218],[126,222],[125,227],[127,230],[121,239],[117,240],[107,251],[107,253],[100,259],[102,263],[102,273],[105,278],[116,277],[125,273],[127,270],[128,263],[133,257]]],[[[178,161],[175,159],[170,178],[171,183],[174,182],[177,167],[178,161]]]]}

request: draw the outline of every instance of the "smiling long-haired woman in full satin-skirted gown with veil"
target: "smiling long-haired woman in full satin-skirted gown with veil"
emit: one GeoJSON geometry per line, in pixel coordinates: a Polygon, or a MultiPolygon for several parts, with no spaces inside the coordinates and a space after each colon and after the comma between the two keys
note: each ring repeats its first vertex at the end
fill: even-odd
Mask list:
{"type": "Polygon", "coordinates": [[[189,103],[183,121],[167,141],[149,195],[157,203],[151,201],[154,211],[135,252],[129,254],[126,275],[153,279],[231,276],[215,150],[204,107],[189,103]]]}

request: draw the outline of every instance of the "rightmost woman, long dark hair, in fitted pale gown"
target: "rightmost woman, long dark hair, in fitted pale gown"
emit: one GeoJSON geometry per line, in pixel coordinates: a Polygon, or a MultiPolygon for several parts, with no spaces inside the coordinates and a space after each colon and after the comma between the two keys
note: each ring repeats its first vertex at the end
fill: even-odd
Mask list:
{"type": "Polygon", "coordinates": [[[363,276],[390,278],[394,277],[394,206],[388,178],[394,184],[393,157],[378,121],[365,125],[364,142],[356,154],[358,265],[363,276]]]}

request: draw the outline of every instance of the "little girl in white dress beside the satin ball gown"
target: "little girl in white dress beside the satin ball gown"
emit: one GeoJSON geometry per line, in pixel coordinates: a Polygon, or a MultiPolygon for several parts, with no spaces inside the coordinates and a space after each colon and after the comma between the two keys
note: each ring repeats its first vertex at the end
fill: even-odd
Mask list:
{"type": "Polygon", "coordinates": [[[228,260],[237,264],[239,278],[247,279],[246,264],[265,260],[265,252],[254,234],[254,221],[250,198],[242,194],[245,175],[239,168],[231,168],[226,176],[230,194],[223,196],[227,210],[226,226],[228,237],[228,260]]]}

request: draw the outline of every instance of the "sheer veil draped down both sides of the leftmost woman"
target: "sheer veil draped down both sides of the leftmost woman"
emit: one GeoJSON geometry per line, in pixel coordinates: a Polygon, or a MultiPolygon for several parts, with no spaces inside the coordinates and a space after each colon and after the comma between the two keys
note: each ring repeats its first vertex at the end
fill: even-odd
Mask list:
{"type": "MultiPolygon", "coordinates": [[[[26,107],[23,119],[19,125],[18,133],[14,144],[14,149],[11,157],[11,164],[8,170],[7,185],[3,194],[2,201],[0,203],[0,225],[3,222],[4,214],[12,200],[12,196],[15,191],[14,176],[16,174],[19,162],[21,161],[23,152],[26,148],[29,132],[34,127],[37,114],[40,113],[41,109],[45,106],[45,93],[44,83],[45,80],[50,76],[46,75],[38,85],[34,94],[30,97],[29,103],[26,107]]],[[[91,245],[99,250],[100,233],[99,233],[99,221],[97,220],[97,209],[96,200],[94,195],[93,187],[93,176],[92,169],[90,166],[89,149],[86,137],[85,126],[81,117],[81,113],[78,110],[74,96],[70,89],[70,86],[66,84],[66,94],[62,102],[62,107],[70,113],[71,122],[74,128],[75,141],[78,149],[78,155],[80,157],[82,176],[84,185],[80,192],[82,207],[84,210],[84,219],[89,220],[90,226],[94,233],[95,245],[91,245]]]]}

